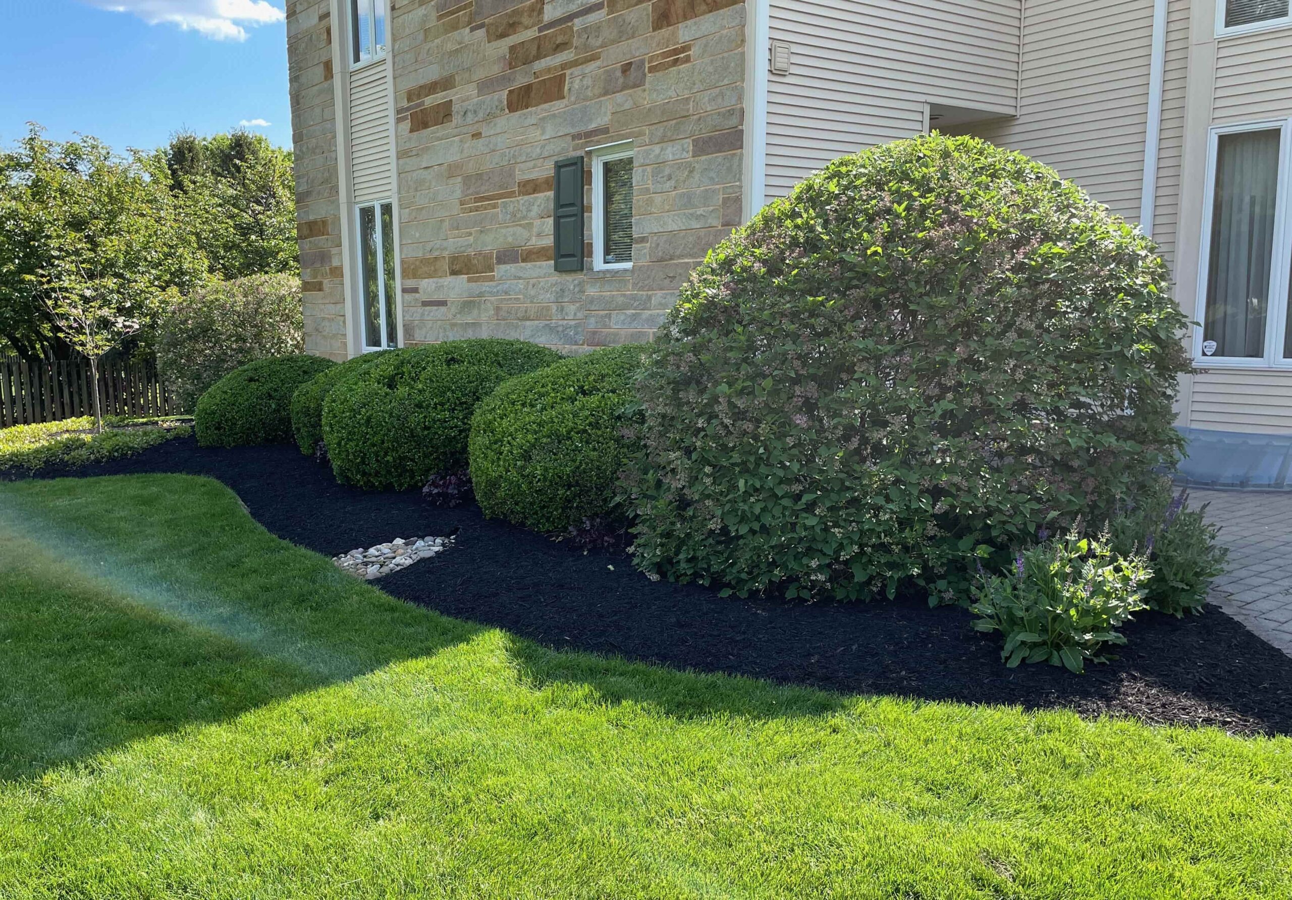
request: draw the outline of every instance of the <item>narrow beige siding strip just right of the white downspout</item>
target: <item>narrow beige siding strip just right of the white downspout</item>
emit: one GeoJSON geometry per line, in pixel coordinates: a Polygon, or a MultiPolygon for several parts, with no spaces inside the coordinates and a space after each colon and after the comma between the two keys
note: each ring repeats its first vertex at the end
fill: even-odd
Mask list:
{"type": "Polygon", "coordinates": [[[1176,270],[1176,232],[1180,223],[1180,169],[1185,150],[1185,92],[1189,85],[1190,0],[1167,6],[1167,58],[1162,80],[1162,130],[1158,138],[1158,198],[1152,213],[1152,239],[1162,258],[1176,270]]]}

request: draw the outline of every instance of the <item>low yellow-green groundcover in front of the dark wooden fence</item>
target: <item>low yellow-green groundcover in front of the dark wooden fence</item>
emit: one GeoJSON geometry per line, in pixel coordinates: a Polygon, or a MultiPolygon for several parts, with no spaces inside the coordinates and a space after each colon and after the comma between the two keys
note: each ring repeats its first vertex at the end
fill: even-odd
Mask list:
{"type": "Polygon", "coordinates": [[[96,433],[94,418],[14,425],[0,429],[0,475],[21,475],[58,466],[72,469],[121,456],[133,456],[171,438],[187,438],[187,425],[159,420],[109,417],[110,427],[96,433]]]}

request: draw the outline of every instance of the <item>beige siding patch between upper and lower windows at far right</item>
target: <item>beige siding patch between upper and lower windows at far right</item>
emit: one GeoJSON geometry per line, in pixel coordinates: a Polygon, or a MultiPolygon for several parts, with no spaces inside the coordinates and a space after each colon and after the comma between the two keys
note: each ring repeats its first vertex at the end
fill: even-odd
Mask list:
{"type": "Polygon", "coordinates": [[[1214,124],[1292,115],[1292,28],[1221,37],[1216,44],[1214,124]]]}

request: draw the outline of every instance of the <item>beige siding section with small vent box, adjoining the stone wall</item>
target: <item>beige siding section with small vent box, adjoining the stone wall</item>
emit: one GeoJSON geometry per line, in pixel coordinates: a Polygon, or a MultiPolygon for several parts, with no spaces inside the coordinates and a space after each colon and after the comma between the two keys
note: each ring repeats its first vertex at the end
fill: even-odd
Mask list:
{"type": "Polygon", "coordinates": [[[767,75],[766,195],[917,134],[924,103],[1013,115],[1019,0],[771,0],[789,75],[767,75]]]}

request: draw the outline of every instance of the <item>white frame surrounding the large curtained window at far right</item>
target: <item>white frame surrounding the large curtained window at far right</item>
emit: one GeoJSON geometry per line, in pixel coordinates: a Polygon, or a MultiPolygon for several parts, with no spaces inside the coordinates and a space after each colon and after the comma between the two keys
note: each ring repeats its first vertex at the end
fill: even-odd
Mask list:
{"type": "Polygon", "coordinates": [[[1292,359],[1283,356],[1284,329],[1288,315],[1288,279],[1292,272],[1292,229],[1289,229],[1288,196],[1292,173],[1292,119],[1266,119],[1235,125],[1214,125],[1207,136],[1207,183],[1203,194],[1203,236],[1198,261],[1198,306],[1194,328],[1194,364],[1208,369],[1292,369],[1292,359]],[[1243,132],[1279,132],[1279,172],[1274,212],[1274,258],[1270,261],[1269,301],[1265,311],[1264,356],[1205,356],[1203,341],[1207,328],[1207,287],[1211,278],[1212,218],[1216,213],[1216,165],[1221,134],[1243,132]]]}

